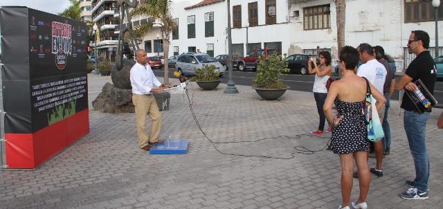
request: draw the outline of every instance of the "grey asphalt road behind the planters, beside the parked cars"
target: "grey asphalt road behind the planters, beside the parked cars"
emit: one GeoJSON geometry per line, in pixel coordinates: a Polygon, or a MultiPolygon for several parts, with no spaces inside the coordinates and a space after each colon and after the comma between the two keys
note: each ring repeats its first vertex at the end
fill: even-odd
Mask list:
{"type": "MultiPolygon", "coordinates": [[[[163,77],[163,69],[154,69],[154,74],[156,76],[163,77]]],[[[174,78],[174,75],[172,73],[174,72],[174,69],[170,69],[169,71],[169,77],[174,78]]],[[[255,78],[255,72],[251,71],[233,71],[233,80],[235,84],[244,85],[244,86],[251,86],[252,85],[252,79],[255,78]]],[[[296,91],[312,91],[312,87],[314,85],[314,75],[298,75],[298,74],[284,74],[282,81],[286,83],[290,90],[296,90],[296,91]]],[[[227,83],[228,82],[228,72],[221,78],[221,82],[227,83]]],[[[434,89],[434,96],[435,99],[439,102],[437,104],[437,107],[443,108],[443,81],[437,81],[435,83],[435,89],[434,89]]],[[[394,95],[392,96],[393,100],[399,99],[399,92],[395,91],[394,95]]]]}

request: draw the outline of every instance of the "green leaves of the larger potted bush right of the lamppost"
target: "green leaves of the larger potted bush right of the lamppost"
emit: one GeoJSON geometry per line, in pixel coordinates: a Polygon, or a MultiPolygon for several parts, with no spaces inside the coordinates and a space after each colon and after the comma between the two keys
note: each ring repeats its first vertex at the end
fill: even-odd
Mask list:
{"type": "Polygon", "coordinates": [[[280,82],[284,72],[289,71],[286,55],[261,56],[257,64],[257,76],[253,78],[253,87],[264,89],[284,89],[287,86],[280,82]]]}

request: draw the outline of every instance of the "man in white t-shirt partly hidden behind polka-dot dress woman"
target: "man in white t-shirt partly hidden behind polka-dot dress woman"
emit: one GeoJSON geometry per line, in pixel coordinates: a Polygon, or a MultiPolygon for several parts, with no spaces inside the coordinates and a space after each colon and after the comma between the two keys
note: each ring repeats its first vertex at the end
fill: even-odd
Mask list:
{"type": "MultiPolygon", "coordinates": [[[[357,47],[357,51],[359,51],[360,62],[363,64],[359,66],[359,71],[357,71],[357,75],[360,77],[364,77],[368,79],[368,81],[374,85],[374,87],[383,94],[383,86],[386,80],[386,68],[379,61],[375,59],[374,48],[369,44],[360,44],[357,47]]],[[[379,113],[380,122],[383,122],[384,116],[384,106],[379,113]]],[[[381,138],[374,142],[374,152],[375,158],[377,159],[377,165],[370,169],[370,172],[376,174],[377,176],[383,176],[383,171],[381,170],[381,164],[383,163],[383,142],[381,138]]],[[[354,174],[355,177],[355,174],[354,174]]]]}

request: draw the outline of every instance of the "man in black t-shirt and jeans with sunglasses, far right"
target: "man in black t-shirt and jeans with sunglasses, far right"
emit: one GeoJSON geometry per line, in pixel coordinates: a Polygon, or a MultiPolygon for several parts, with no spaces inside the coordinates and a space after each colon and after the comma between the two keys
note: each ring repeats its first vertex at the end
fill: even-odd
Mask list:
{"type": "MultiPolygon", "coordinates": [[[[409,36],[408,51],[417,55],[413,62],[410,62],[408,69],[397,84],[397,89],[414,91],[417,86],[416,80],[422,80],[429,92],[434,92],[437,70],[435,63],[428,51],[429,35],[422,30],[413,30],[409,36]]],[[[410,187],[405,192],[399,194],[403,199],[428,199],[429,180],[429,158],[426,152],[426,121],[429,112],[419,113],[415,109],[413,102],[403,95],[401,108],[404,109],[404,129],[408,138],[410,154],[414,158],[415,179],[406,181],[410,187]]]]}

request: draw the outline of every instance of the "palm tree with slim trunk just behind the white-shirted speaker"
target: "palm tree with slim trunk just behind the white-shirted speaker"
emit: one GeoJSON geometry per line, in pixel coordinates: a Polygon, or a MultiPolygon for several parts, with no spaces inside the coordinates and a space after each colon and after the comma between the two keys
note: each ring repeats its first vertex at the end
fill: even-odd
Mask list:
{"type": "MultiPolygon", "coordinates": [[[[165,57],[165,75],[164,75],[164,83],[169,84],[169,72],[168,72],[168,53],[169,53],[169,38],[172,30],[176,27],[176,23],[172,18],[170,8],[172,1],[170,0],[145,0],[141,4],[139,4],[136,8],[134,8],[130,15],[132,17],[141,17],[147,16],[152,17],[152,21],[159,21],[155,24],[159,24],[161,26],[161,34],[163,39],[163,52],[165,57]]],[[[151,19],[151,18],[150,18],[151,19]]],[[[154,23],[152,21],[148,21],[145,24],[141,24],[137,26],[134,31],[136,36],[142,37],[145,33],[149,33],[154,23]]]]}

